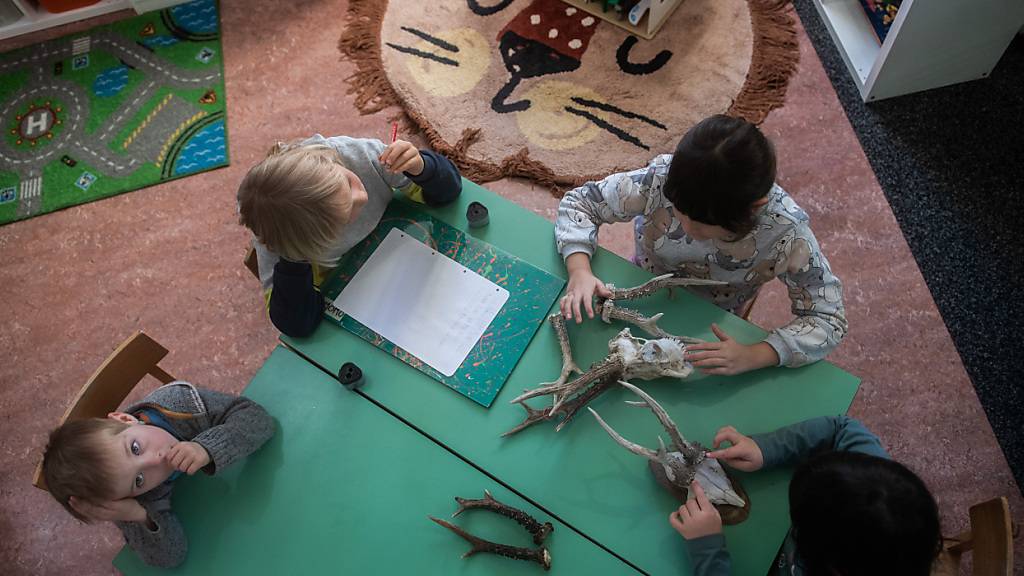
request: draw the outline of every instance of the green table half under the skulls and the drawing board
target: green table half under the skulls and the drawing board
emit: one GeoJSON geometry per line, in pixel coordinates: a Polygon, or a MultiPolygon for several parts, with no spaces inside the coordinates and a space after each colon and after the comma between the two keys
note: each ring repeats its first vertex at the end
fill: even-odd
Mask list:
{"type": "MultiPolygon", "coordinates": [[[[459,202],[430,213],[564,277],[551,222],[470,181],[464,180],[459,202]],[[468,229],[464,214],[473,200],[489,209],[488,227],[468,229]]],[[[604,281],[624,287],[650,278],[604,250],[594,259],[594,269],[604,281]]],[[[648,315],[665,312],[660,324],[677,334],[713,339],[710,326],[717,322],[741,341],[764,336],[760,328],[684,290],[677,290],[672,298],[651,297],[635,307],[648,315]]],[[[577,362],[586,367],[602,358],[608,339],[622,328],[598,321],[570,327],[577,362]]],[[[367,397],[633,566],[649,574],[689,573],[685,546],[668,523],[677,504],[654,483],[646,461],[616,445],[589,413],[579,414],[560,433],[551,423],[542,423],[500,438],[524,415],[522,408],[509,401],[558,375],[561,360],[550,327],[538,332],[490,409],[329,323],[308,338],[284,340],[331,373],[344,362],[356,362],[366,374],[362,392],[367,397]]],[[[844,413],[858,383],[854,376],[820,362],[800,369],[765,369],[733,377],[696,375],[682,382],[656,380],[641,385],[666,407],[684,436],[710,444],[725,424],[759,433],[813,416],[844,413]]],[[[632,400],[630,396],[623,389],[611,390],[591,406],[626,438],[656,447],[656,436],[664,436],[664,430],[649,411],[623,403],[632,400]]],[[[545,399],[535,400],[535,406],[542,405],[539,400],[545,399]]],[[[753,505],[746,522],[725,529],[735,574],[761,576],[772,562],[788,529],[791,474],[783,469],[740,475],[753,505]]]]}

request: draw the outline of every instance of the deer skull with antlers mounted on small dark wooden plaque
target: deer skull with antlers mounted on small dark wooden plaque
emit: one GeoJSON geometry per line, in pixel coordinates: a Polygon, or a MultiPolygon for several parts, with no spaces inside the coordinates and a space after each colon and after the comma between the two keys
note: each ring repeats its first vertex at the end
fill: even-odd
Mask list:
{"type": "Polygon", "coordinates": [[[711,503],[719,509],[723,523],[738,524],[746,520],[750,515],[750,499],[746,498],[742,487],[726,475],[718,460],[707,457],[705,448],[700,444],[687,442],[679,431],[679,427],[669,417],[669,413],[650,395],[629,382],[620,381],[618,383],[643,399],[643,402],[629,402],[628,404],[646,406],[654,413],[666,431],[669,433],[669,439],[672,441],[671,450],[666,448],[662,437],[657,437],[657,450],[651,450],[626,440],[609,426],[593,408],[588,407],[587,409],[597,418],[597,422],[601,424],[604,431],[608,433],[608,436],[623,448],[647,458],[650,471],[654,475],[657,483],[672,492],[681,502],[686,501],[690,483],[695,480],[708,495],[711,503]]]}

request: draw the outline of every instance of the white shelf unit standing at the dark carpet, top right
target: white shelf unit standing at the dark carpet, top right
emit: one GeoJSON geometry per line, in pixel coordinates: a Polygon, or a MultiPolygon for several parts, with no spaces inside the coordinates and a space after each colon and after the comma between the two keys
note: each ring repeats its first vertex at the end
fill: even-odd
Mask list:
{"type": "Polygon", "coordinates": [[[814,0],[864,101],[985,78],[1024,25],[1020,0],[903,0],[881,44],[858,0],[814,0]]]}

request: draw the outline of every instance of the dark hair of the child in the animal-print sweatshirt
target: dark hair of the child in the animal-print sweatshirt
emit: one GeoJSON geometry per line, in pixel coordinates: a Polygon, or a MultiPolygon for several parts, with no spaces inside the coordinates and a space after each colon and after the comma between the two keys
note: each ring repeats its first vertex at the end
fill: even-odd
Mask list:
{"type": "Polygon", "coordinates": [[[768,138],[741,118],[718,114],[679,140],[663,193],[691,219],[744,235],[754,229],[752,205],[774,183],[768,138]]]}

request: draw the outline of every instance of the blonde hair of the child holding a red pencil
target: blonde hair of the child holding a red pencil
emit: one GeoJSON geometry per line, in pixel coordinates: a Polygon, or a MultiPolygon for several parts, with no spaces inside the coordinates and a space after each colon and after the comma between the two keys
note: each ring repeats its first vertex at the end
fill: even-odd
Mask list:
{"type": "Polygon", "coordinates": [[[239,223],[286,259],[327,263],[352,213],[344,167],[327,145],[278,142],[239,186],[239,223]]]}

